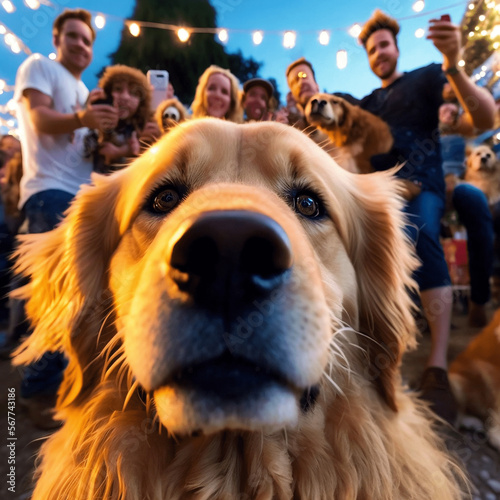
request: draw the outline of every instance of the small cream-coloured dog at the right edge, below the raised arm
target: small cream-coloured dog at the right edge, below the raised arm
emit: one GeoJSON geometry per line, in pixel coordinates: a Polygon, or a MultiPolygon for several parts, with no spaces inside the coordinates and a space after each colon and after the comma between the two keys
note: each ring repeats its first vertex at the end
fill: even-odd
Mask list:
{"type": "Polygon", "coordinates": [[[486,144],[467,156],[465,180],[483,191],[490,205],[500,201],[500,160],[486,144]]]}

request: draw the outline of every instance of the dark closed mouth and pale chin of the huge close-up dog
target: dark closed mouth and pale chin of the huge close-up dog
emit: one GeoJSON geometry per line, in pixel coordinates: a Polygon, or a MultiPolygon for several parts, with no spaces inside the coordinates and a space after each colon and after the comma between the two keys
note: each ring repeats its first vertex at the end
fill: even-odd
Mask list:
{"type": "Polygon", "coordinates": [[[173,372],[154,391],[161,423],[174,434],[276,430],[297,424],[318,387],[298,388],[279,370],[229,352],[173,372]]]}

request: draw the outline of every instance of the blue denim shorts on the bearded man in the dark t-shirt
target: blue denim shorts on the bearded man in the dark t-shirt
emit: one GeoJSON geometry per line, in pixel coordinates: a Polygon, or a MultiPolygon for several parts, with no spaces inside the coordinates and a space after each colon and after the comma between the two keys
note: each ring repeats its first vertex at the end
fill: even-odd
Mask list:
{"type": "Polygon", "coordinates": [[[444,208],[444,197],[432,191],[422,191],[405,208],[409,221],[406,230],[415,242],[421,262],[414,276],[421,292],[451,285],[448,265],[439,240],[444,208]]]}

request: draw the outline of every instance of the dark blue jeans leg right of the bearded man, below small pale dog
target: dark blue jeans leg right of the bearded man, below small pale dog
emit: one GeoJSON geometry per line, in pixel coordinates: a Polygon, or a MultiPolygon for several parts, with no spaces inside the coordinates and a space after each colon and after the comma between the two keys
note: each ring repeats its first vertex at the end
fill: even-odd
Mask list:
{"type": "Polygon", "coordinates": [[[470,298],[476,304],[490,300],[493,273],[493,218],[485,194],[470,184],[453,190],[453,206],[467,230],[470,298]]]}

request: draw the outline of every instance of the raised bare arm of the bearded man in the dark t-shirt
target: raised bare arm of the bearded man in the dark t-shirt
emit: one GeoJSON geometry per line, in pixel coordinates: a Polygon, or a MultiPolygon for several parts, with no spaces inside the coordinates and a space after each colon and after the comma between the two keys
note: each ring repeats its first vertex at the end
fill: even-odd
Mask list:
{"type": "Polygon", "coordinates": [[[443,71],[464,110],[461,122],[464,127],[489,129],[495,118],[495,101],[485,89],[475,85],[464,71],[458,68],[461,42],[460,29],[450,21],[430,20],[427,38],[443,54],[443,71]]]}

